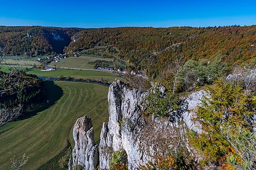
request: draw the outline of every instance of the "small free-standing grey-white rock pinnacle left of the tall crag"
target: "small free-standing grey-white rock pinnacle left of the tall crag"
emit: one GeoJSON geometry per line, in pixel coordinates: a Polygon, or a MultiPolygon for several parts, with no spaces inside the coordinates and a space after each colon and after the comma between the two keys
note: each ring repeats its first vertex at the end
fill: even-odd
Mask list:
{"type": "MultiPolygon", "coordinates": [[[[69,167],[81,165],[84,169],[95,169],[98,164],[98,148],[94,142],[94,131],[90,117],[84,116],[77,119],[73,129],[75,148],[73,149],[73,162],[69,167]]],[[[69,168],[71,169],[71,168],[69,168]]]]}

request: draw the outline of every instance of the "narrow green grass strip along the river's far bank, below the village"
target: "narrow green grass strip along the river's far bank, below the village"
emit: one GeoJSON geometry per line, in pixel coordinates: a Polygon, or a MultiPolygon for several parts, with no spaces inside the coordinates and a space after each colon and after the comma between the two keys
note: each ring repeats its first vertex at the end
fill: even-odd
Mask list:
{"type": "Polygon", "coordinates": [[[65,70],[65,69],[57,69],[55,71],[40,71],[40,69],[32,69],[30,71],[27,71],[28,74],[35,74],[38,76],[49,76],[49,77],[59,77],[61,75],[63,76],[71,76],[72,78],[82,78],[82,79],[92,79],[92,80],[108,80],[108,82],[112,83],[114,82],[115,78],[117,76],[108,74],[108,73],[102,73],[102,72],[96,72],[96,71],[82,71],[82,70],[65,70]]]}

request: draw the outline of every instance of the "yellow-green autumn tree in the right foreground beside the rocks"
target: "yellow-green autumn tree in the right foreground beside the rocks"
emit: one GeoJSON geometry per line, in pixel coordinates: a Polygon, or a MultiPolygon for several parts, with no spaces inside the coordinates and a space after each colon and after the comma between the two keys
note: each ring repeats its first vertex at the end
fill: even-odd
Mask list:
{"type": "Polygon", "coordinates": [[[251,118],[255,114],[256,106],[255,96],[244,93],[241,86],[233,86],[221,80],[218,80],[213,88],[209,87],[209,94],[210,97],[204,97],[193,119],[201,126],[203,132],[191,132],[192,146],[203,156],[203,163],[228,162],[235,157],[250,169],[255,166],[255,143],[247,142],[241,145],[241,141],[251,139],[244,131],[247,133],[251,130],[251,118]],[[234,141],[234,138],[238,141],[234,141]],[[250,146],[252,144],[253,149],[250,146]],[[250,151],[251,160],[243,158],[243,155],[248,155],[247,150],[250,151]]]}

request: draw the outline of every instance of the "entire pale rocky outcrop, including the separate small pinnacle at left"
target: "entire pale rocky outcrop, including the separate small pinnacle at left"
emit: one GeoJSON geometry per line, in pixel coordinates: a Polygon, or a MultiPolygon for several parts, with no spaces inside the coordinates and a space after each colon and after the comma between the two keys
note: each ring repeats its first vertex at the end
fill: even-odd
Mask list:
{"type": "MultiPolygon", "coordinates": [[[[113,152],[121,150],[127,154],[129,169],[139,169],[140,165],[154,160],[153,156],[159,153],[175,154],[181,149],[184,156],[189,155],[191,149],[184,134],[187,128],[200,133],[200,127],[191,118],[195,114],[193,109],[200,105],[203,95],[206,95],[205,91],[195,92],[183,101],[180,111],[171,113],[172,117],[151,121],[143,115],[147,105],[144,99],[148,92],[130,89],[116,80],[109,87],[109,122],[102,125],[98,157],[92,158],[92,155],[97,156],[97,149],[91,135],[91,123],[84,123],[83,126],[76,123],[74,139],[77,142],[73,150],[73,164],[90,169],[93,166],[88,168],[88,165],[97,164],[98,159],[99,167],[108,169],[113,152]],[[87,127],[87,130],[79,127],[87,127]]],[[[77,121],[86,122],[84,118],[83,121],[80,119],[77,121]]]]}

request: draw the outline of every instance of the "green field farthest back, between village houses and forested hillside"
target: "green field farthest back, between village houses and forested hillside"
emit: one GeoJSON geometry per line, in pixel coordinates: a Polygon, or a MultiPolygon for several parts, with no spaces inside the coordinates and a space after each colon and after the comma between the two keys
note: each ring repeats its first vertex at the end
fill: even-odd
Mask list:
{"type": "Polygon", "coordinates": [[[83,54],[79,57],[68,57],[68,58],[62,59],[60,62],[52,62],[50,65],[51,66],[56,65],[57,67],[70,67],[70,68],[78,68],[78,69],[94,69],[93,65],[90,65],[88,62],[95,61],[97,59],[105,60],[105,61],[113,61],[112,58],[103,58],[101,56],[83,54]]]}

